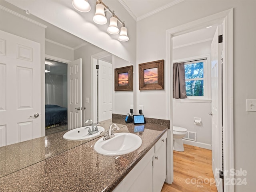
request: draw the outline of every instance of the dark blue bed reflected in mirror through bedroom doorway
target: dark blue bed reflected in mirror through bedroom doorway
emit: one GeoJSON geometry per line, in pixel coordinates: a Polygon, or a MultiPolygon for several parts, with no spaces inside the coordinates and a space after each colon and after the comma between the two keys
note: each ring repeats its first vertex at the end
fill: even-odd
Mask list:
{"type": "Polygon", "coordinates": [[[45,105],[45,126],[67,124],[68,109],[58,105],[45,105]]]}

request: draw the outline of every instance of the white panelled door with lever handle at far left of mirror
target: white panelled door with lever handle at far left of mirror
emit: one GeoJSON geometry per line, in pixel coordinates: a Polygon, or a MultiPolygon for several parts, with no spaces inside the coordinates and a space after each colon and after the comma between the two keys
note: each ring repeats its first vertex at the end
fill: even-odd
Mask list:
{"type": "Polygon", "coordinates": [[[0,146],[5,146],[41,136],[41,56],[37,42],[4,31],[0,38],[0,146]]]}

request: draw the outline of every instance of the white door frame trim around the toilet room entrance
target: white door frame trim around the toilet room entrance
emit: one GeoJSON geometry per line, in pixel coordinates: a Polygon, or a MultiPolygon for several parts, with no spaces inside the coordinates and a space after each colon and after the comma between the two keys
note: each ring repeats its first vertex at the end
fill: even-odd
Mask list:
{"type": "MultiPolygon", "coordinates": [[[[185,34],[187,32],[191,32],[193,30],[198,30],[200,28],[205,28],[212,24],[222,23],[223,26],[223,150],[224,150],[224,170],[231,170],[234,168],[234,149],[233,149],[233,102],[230,101],[230,98],[233,98],[233,26],[232,26],[232,18],[233,18],[233,10],[226,10],[220,12],[218,14],[214,14],[212,16],[208,16],[206,18],[202,18],[196,20],[194,22],[190,22],[188,24],[184,24],[182,26],[178,26],[176,28],[172,28],[167,30],[167,63],[168,63],[168,76],[172,77],[172,38],[174,36],[178,36],[180,34],[185,34]]],[[[171,100],[172,98],[172,78],[169,79],[170,83],[170,91],[168,98],[171,100]]],[[[169,145],[172,148],[172,102],[170,104],[170,141],[169,145]]],[[[167,151],[168,152],[168,151],[167,151]]],[[[167,182],[172,183],[173,181],[173,153],[167,153],[167,161],[170,162],[169,170],[167,170],[167,182]]],[[[167,166],[168,167],[168,166],[167,166]]],[[[234,186],[225,185],[225,182],[228,179],[232,179],[232,175],[224,175],[224,191],[234,191],[234,186]]]]}

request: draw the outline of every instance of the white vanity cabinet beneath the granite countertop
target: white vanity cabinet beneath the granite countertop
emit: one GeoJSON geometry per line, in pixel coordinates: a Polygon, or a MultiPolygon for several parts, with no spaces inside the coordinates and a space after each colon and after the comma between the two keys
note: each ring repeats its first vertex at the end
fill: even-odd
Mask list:
{"type": "Polygon", "coordinates": [[[160,192],[166,179],[167,132],[134,166],[113,192],[160,192]]]}

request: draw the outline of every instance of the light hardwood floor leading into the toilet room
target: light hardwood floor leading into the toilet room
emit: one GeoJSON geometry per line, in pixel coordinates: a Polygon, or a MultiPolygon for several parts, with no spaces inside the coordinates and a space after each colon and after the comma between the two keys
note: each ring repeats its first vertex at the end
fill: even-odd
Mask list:
{"type": "Polygon", "coordinates": [[[217,192],[212,173],[212,151],[184,144],[184,152],[173,151],[174,182],[161,192],[217,192]]]}

